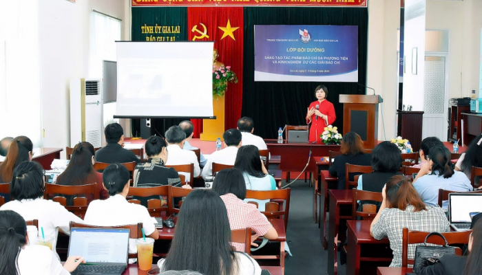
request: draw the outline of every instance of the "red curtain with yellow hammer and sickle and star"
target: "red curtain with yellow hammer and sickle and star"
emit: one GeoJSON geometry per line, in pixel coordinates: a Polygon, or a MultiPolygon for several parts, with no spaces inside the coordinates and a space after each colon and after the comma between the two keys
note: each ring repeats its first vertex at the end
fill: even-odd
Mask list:
{"type": "MultiPolygon", "coordinates": [[[[229,83],[224,95],[224,128],[236,128],[242,107],[243,8],[187,8],[187,30],[189,41],[214,41],[218,61],[231,66],[231,71],[238,76],[238,83],[229,83]]],[[[197,136],[202,132],[202,120],[191,121],[197,136]]]]}

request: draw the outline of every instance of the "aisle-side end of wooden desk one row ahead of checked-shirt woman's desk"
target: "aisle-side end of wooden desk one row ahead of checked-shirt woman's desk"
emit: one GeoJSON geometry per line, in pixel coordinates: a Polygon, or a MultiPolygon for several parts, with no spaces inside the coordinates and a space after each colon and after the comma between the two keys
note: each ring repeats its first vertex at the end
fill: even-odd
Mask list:
{"type": "Polygon", "coordinates": [[[351,208],[350,215],[346,213],[346,216],[340,214],[341,206],[348,206],[352,201],[352,190],[328,190],[328,195],[330,197],[330,214],[328,217],[328,236],[326,241],[328,242],[328,262],[326,263],[328,267],[328,274],[337,274],[337,242],[344,241],[345,230],[344,226],[342,229],[339,228],[339,223],[341,219],[351,219],[351,208]]]}

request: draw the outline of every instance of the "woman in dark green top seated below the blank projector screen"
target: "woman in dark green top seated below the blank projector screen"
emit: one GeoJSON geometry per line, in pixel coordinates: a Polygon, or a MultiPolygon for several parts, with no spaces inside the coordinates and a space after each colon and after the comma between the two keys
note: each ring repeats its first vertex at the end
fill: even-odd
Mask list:
{"type": "MultiPolygon", "coordinates": [[[[167,144],[165,140],[158,136],[152,135],[145,142],[145,153],[147,154],[147,162],[137,164],[134,170],[134,187],[155,187],[163,185],[179,186],[179,174],[174,168],[164,166],[167,161],[167,144]]],[[[189,185],[187,185],[189,186],[189,185]]],[[[191,186],[189,186],[191,187],[191,186]]],[[[166,201],[166,198],[151,197],[136,197],[140,204],[147,207],[149,199],[161,199],[166,201]]]]}

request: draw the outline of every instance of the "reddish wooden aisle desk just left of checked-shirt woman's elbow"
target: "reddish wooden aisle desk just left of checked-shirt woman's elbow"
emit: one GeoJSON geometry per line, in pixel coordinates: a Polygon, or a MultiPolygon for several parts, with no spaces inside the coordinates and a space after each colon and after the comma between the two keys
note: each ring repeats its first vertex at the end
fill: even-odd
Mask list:
{"type": "MultiPolygon", "coordinates": [[[[372,272],[360,272],[361,262],[382,262],[381,265],[385,264],[388,266],[392,261],[392,254],[386,255],[387,257],[380,257],[379,255],[362,255],[362,245],[386,245],[388,247],[390,245],[388,238],[385,237],[384,239],[377,240],[370,235],[371,223],[372,221],[368,220],[346,221],[348,226],[348,255],[346,255],[346,275],[375,273],[375,270],[372,272]]],[[[373,248],[370,250],[370,252],[376,251],[376,249],[373,248]]],[[[364,251],[367,252],[368,250],[364,251]]]]}

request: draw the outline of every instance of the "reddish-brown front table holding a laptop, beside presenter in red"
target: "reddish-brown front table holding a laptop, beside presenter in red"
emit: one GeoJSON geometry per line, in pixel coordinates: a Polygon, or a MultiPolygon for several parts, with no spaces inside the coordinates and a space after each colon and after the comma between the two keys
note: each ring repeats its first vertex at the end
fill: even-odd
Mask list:
{"type": "MultiPolygon", "coordinates": [[[[308,162],[308,156],[311,155],[328,156],[328,151],[339,151],[339,145],[324,144],[278,144],[271,140],[265,140],[271,155],[280,155],[280,170],[283,172],[301,172],[308,162]]],[[[315,173],[315,162],[313,158],[309,158],[308,168],[306,172],[315,173]]],[[[286,173],[286,176],[288,173],[286,173]]]]}

